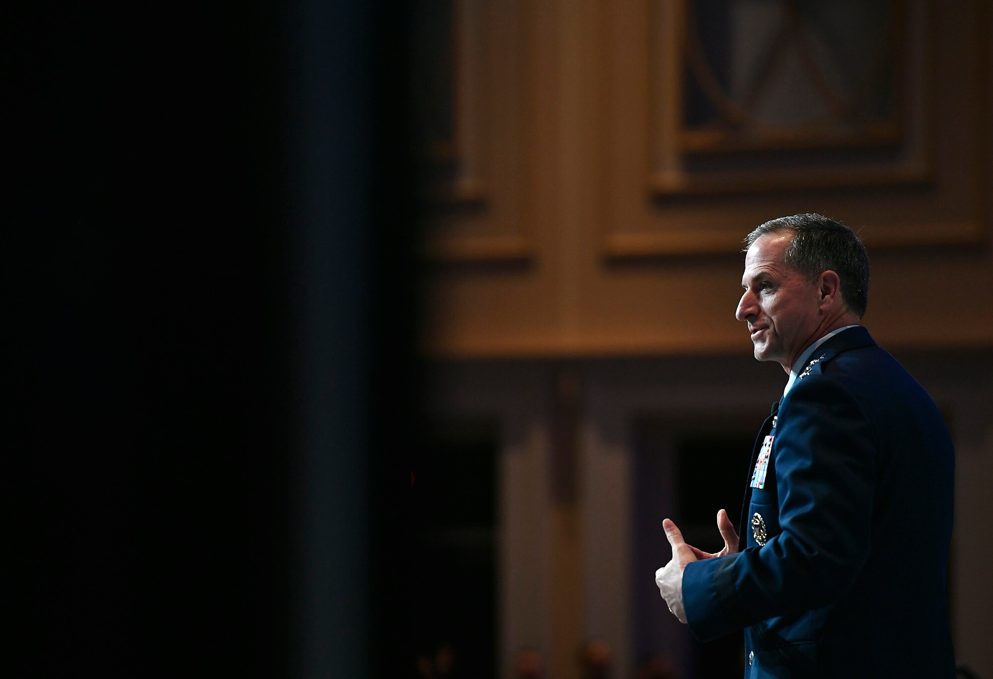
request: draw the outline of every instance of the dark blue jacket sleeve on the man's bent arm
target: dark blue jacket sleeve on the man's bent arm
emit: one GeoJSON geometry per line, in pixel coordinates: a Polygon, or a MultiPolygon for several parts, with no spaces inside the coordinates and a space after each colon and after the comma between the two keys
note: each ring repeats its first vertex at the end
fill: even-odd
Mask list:
{"type": "Polygon", "coordinates": [[[700,640],[835,602],[868,558],[878,446],[862,407],[817,374],[793,386],[779,415],[780,533],[686,566],[683,604],[700,640]]]}

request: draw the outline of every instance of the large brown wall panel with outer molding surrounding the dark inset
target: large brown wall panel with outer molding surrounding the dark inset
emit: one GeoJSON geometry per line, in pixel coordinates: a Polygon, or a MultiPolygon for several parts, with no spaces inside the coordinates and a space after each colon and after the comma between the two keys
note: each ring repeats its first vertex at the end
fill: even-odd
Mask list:
{"type": "Polygon", "coordinates": [[[978,42],[978,5],[959,3],[911,13],[920,17],[918,24],[928,17],[933,21],[931,35],[912,41],[907,60],[919,64],[910,69],[913,86],[908,89],[921,92],[908,95],[916,103],[909,105],[913,114],[907,158],[889,165],[870,160],[840,165],[834,160],[811,162],[808,167],[797,166],[794,182],[778,178],[779,170],[768,170],[776,164],[772,159],[764,162],[761,154],[730,158],[729,167],[736,166],[735,171],[701,174],[681,169],[671,120],[677,112],[659,102],[680,89],[679,69],[664,66],[679,54],[665,43],[677,40],[679,32],[666,28],[664,19],[673,20],[679,13],[662,11],[679,4],[673,0],[612,6],[608,69],[618,80],[605,101],[607,256],[728,252],[740,242],[743,228],[747,231],[791,211],[821,211],[863,225],[870,246],[982,242],[988,180],[977,163],[988,156],[983,129],[988,123],[981,111],[989,94],[981,81],[986,67],[978,42]],[[661,21],[651,19],[658,14],[661,21]],[[926,131],[915,131],[922,126],[926,131]],[[922,144],[926,152],[914,149],[922,144]],[[667,197],[658,197],[655,191],[659,173],[668,177],[667,197]],[[797,191],[798,184],[806,183],[799,182],[804,174],[808,179],[822,176],[822,190],[797,191]],[[681,195],[678,186],[686,189],[681,195]]]}

